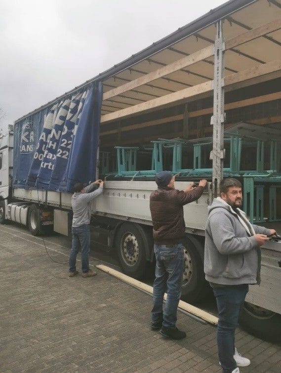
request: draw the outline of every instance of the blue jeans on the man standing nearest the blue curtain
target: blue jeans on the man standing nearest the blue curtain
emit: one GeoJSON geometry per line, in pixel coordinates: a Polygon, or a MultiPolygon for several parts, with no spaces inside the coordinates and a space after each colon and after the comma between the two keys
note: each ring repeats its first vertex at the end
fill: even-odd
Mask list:
{"type": "Polygon", "coordinates": [[[69,255],[69,271],[76,271],[76,256],[81,248],[82,272],[89,270],[90,226],[72,227],[72,248],[69,255]]]}

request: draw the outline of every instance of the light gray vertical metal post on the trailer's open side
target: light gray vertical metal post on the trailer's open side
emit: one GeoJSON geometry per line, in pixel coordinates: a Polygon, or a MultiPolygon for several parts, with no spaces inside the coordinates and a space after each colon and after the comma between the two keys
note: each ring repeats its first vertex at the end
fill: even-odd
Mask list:
{"type": "Polygon", "coordinates": [[[213,150],[210,159],[213,161],[212,198],[219,195],[219,183],[223,179],[224,158],[224,53],[223,21],[216,24],[214,42],[214,106],[211,125],[213,125],[213,150]]]}

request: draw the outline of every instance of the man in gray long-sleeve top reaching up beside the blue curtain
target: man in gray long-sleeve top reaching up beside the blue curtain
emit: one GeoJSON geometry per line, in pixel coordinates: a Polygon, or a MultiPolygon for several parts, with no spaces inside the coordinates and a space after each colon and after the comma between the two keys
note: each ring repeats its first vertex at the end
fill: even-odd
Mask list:
{"type": "Polygon", "coordinates": [[[74,185],[74,192],[71,199],[73,220],[69,276],[78,274],[76,256],[81,248],[82,277],[91,277],[97,274],[89,269],[91,202],[103,192],[103,181],[96,180],[86,187],[82,183],[77,183],[74,185]],[[96,185],[99,185],[99,188],[92,191],[96,185]]]}

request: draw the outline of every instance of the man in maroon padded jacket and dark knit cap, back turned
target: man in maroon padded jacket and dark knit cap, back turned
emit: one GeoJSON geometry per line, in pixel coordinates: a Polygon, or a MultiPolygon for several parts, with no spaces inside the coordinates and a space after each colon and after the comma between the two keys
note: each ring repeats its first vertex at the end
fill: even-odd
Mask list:
{"type": "Polygon", "coordinates": [[[175,324],[184,269],[183,206],[201,197],[207,181],[201,180],[198,187],[189,184],[181,191],[175,189],[175,176],[169,171],[159,172],[155,181],[158,190],[150,195],[156,256],[151,329],[160,329],[161,334],[167,338],[182,339],[186,337],[186,333],[179,331],[175,324]],[[166,286],[167,299],[163,312],[166,286]]]}

